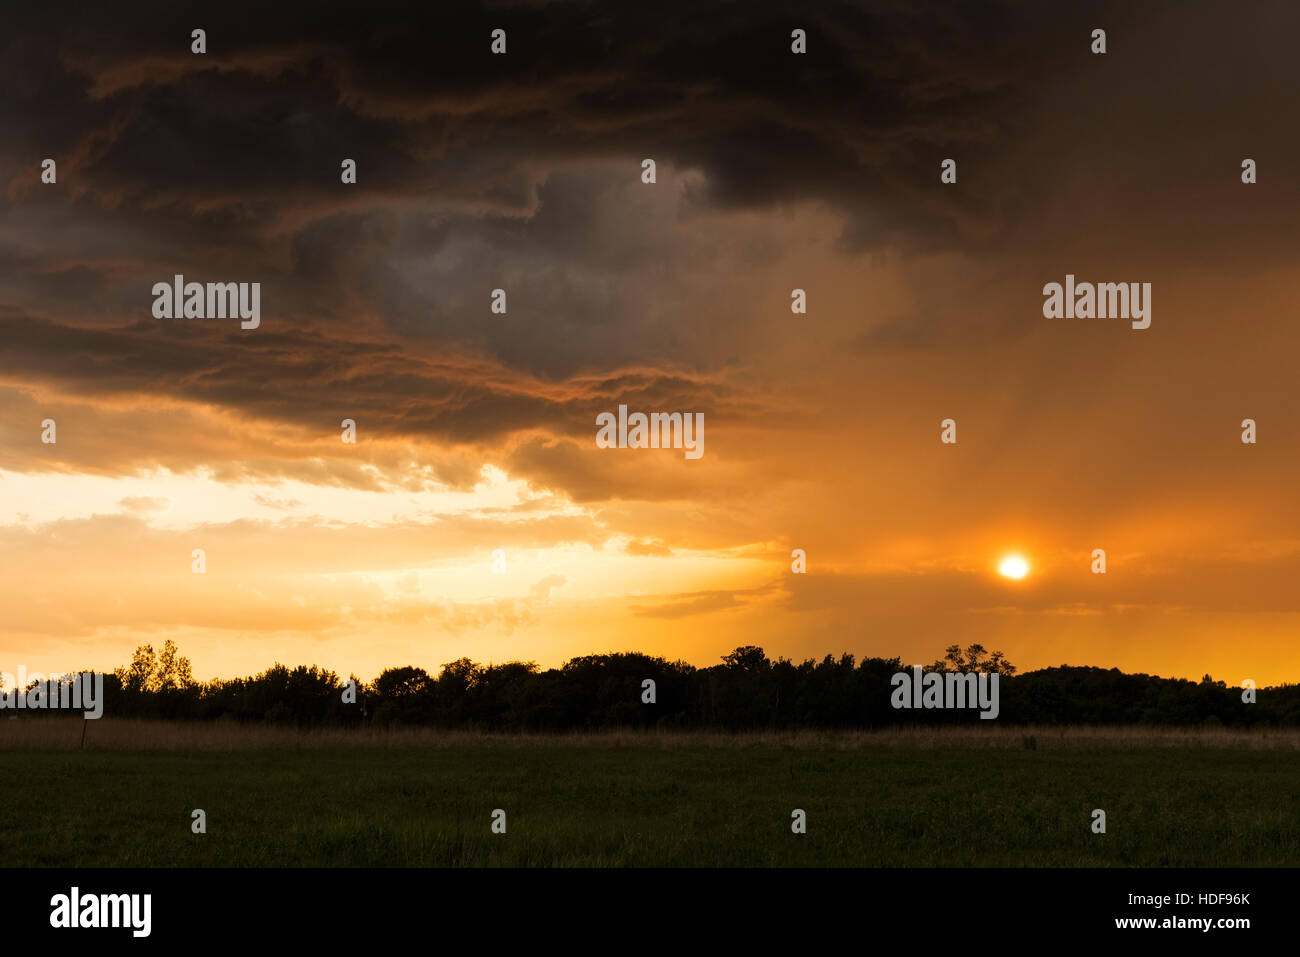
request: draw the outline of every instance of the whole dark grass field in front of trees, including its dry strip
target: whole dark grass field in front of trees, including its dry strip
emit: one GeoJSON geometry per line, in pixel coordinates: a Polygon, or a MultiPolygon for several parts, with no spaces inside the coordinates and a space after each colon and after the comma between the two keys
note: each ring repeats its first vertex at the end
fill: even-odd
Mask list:
{"type": "Polygon", "coordinates": [[[1282,732],[312,736],[105,720],[78,750],[81,722],[5,724],[5,866],[1300,865],[1300,741],[1282,732]],[[806,835],[790,832],[796,807],[806,835]]]}

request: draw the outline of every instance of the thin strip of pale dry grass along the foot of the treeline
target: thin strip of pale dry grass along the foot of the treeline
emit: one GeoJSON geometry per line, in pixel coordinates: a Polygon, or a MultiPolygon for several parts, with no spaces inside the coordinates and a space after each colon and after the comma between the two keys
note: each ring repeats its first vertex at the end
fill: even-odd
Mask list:
{"type": "MultiPolygon", "coordinates": [[[[0,750],[77,750],[79,718],[0,720],[0,750]]],[[[992,726],[884,728],[879,731],[594,731],[550,735],[439,731],[433,728],[325,728],[299,731],[264,726],[143,722],[103,718],[87,723],[87,750],[269,750],[338,748],[861,748],[1130,749],[1222,748],[1300,749],[1300,728],[1235,731],[1175,727],[992,726]]]]}

